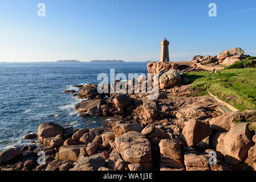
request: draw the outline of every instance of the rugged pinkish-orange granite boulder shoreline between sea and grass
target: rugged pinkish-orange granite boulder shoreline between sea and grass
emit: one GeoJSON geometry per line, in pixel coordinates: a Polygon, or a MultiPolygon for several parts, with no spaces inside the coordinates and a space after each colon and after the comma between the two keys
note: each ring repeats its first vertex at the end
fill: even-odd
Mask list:
{"type": "MultiPolygon", "coordinates": [[[[224,54],[222,59],[226,59],[227,52],[224,54]]],[[[0,170],[256,169],[256,110],[227,112],[210,96],[194,97],[188,78],[180,77],[184,69],[157,64],[148,64],[149,73],[160,73],[160,92],[155,100],[149,99],[149,93],[99,94],[97,85],[78,85],[79,91],[74,96],[85,100],[76,104],[74,110],[82,117],[109,117],[108,126],[79,130],[63,128],[54,122],[41,123],[37,134],[23,137],[37,138],[38,141],[32,142],[38,144],[2,151],[0,170]]],[[[137,81],[141,91],[143,77],[137,81]]],[[[129,80],[125,84],[134,82],[129,80]]],[[[65,92],[74,94],[73,90],[65,92]]]]}

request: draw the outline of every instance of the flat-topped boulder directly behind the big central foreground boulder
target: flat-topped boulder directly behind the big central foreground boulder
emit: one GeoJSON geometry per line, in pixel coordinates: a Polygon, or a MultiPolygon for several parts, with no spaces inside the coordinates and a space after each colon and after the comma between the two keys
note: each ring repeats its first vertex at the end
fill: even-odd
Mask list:
{"type": "Polygon", "coordinates": [[[137,131],[141,133],[142,127],[139,123],[124,123],[114,126],[112,130],[116,138],[121,137],[121,135],[127,133],[128,131],[137,131]]]}

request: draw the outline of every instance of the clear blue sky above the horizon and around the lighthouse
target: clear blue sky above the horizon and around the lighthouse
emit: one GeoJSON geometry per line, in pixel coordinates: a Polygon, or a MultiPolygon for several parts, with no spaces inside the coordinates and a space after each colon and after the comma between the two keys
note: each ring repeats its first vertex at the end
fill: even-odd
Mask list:
{"type": "Polygon", "coordinates": [[[233,47],[256,55],[255,19],[255,0],[1,0],[0,61],[159,60],[164,37],[172,61],[233,47]]]}

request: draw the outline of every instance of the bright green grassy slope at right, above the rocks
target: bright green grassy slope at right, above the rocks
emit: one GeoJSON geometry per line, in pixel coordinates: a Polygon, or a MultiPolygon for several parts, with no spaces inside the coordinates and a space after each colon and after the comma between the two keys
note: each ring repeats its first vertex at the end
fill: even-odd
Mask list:
{"type": "Polygon", "coordinates": [[[210,93],[238,110],[256,109],[256,68],[190,72],[182,77],[189,77],[194,90],[204,92],[209,87],[210,93]]]}

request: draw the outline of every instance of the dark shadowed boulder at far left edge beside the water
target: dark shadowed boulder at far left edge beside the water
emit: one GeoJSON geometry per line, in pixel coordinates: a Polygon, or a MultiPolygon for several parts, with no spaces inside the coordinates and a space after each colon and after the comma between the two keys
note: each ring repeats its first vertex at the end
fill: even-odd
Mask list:
{"type": "Polygon", "coordinates": [[[17,158],[18,156],[22,155],[22,150],[18,148],[8,148],[0,152],[0,164],[7,163],[11,159],[17,158]]]}

